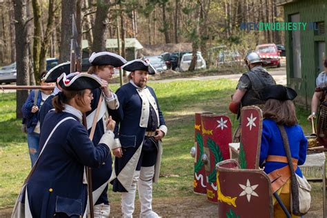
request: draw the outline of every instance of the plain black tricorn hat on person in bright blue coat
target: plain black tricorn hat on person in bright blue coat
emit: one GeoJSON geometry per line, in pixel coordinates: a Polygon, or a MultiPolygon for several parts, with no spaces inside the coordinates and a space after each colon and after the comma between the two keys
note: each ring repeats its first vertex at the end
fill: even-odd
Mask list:
{"type": "Polygon", "coordinates": [[[282,85],[266,86],[259,91],[261,100],[277,99],[280,101],[293,100],[297,97],[297,92],[293,88],[282,85]]]}

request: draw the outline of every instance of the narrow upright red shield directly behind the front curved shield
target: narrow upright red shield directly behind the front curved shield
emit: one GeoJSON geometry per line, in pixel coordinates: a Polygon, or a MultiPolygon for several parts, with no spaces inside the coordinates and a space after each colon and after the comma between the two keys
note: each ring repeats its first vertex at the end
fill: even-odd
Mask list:
{"type": "Polygon", "coordinates": [[[257,106],[241,110],[239,164],[242,169],[258,169],[262,133],[262,112],[257,106]]]}

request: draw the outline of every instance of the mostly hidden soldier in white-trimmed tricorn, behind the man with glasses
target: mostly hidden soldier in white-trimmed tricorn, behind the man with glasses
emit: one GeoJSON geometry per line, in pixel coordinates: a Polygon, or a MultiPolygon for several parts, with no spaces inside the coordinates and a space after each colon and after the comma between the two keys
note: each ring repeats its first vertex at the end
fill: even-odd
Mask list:
{"type": "Polygon", "coordinates": [[[53,92],[46,99],[46,101],[44,101],[42,108],[40,108],[40,110],[39,110],[38,117],[39,117],[39,121],[40,121],[40,129],[42,128],[44,118],[46,117],[48,112],[53,109],[53,106],[52,106],[53,97],[62,90],[61,87],[59,86],[59,84],[57,83],[57,79],[58,79],[58,77],[60,77],[63,74],[63,72],[65,72],[66,75],[69,75],[70,61],[67,61],[65,63],[60,63],[59,65],[54,66],[46,73],[46,75],[41,77],[41,81],[44,81],[45,83],[54,83],[54,84],[56,84],[56,86],[54,86],[53,92]]]}

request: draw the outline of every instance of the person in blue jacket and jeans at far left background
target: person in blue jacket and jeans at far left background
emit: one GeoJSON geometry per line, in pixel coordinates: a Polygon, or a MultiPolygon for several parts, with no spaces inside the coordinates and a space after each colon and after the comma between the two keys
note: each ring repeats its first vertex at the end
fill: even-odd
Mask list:
{"type": "MultiPolygon", "coordinates": [[[[46,75],[46,71],[41,72],[40,77],[46,75]]],[[[41,86],[51,86],[52,83],[40,81],[41,86]]],[[[23,119],[26,123],[28,137],[28,152],[32,167],[39,157],[40,122],[38,114],[43,102],[51,94],[51,90],[32,90],[25,103],[21,107],[23,119]]]]}

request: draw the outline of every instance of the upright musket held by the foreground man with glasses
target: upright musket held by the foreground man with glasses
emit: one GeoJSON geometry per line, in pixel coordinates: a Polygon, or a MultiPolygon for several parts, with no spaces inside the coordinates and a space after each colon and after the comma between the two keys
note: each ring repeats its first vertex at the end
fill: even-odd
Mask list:
{"type": "MultiPolygon", "coordinates": [[[[75,23],[75,15],[72,14],[72,39],[70,39],[70,72],[81,72],[81,61],[80,52],[79,52],[79,44],[77,43],[77,28],[75,23]]],[[[86,114],[83,113],[82,117],[83,126],[85,126],[86,130],[88,129],[88,125],[86,123],[86,114]]],[[[88,201],[90,204],[90,217],[94,218],[94,208],[93,208],[93,195],[92,195],[92,169],[86,166],[86,179],[88,180],[88,201]]]]}

